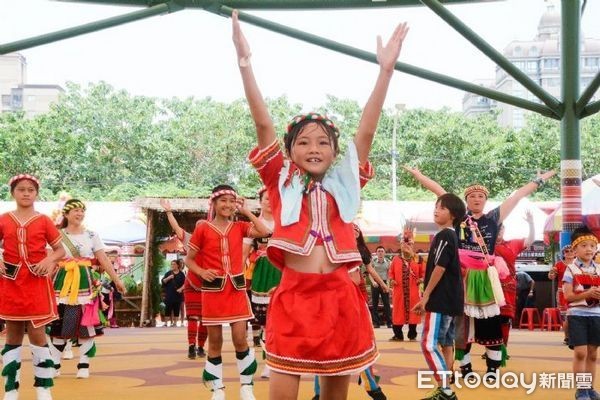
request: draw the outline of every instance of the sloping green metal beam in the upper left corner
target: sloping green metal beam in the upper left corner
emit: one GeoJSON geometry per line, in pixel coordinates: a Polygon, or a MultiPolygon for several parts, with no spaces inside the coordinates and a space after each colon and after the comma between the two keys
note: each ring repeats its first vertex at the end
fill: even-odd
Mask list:
{"type": "Polygon", "coordinates": [[[140,19],[153,17],[159,14],[166,14],[183,9],[173,2],[161,3],[150,8],[134,11],[125,15],[119,15],[103,19],[100,21],[90,22],[88,24],[75,26],[72,28],[62,29],[56,32],[46,33],[44,35],[34,36],[27,39],[17,40],[16,42],[0,45],[0,54],[13,53],[32,47],[41,46],[43,44],[58,42],[59,40],[72,38],[75,36],[84,35],[90,32],[100,31],[113,26],[123,25],[128,22],[137,21],[140,19]]]}

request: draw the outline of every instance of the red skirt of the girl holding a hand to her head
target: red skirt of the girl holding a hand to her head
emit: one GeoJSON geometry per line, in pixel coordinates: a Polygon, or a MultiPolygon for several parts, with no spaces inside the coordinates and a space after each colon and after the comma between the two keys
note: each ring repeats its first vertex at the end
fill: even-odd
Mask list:
{"type": "Polygon", "coordinates": [[[202,290],[202,325],[221,325],[254,318],[246,288],[236,289],[225,276],[225,285],[218,291],[202,290]]]}

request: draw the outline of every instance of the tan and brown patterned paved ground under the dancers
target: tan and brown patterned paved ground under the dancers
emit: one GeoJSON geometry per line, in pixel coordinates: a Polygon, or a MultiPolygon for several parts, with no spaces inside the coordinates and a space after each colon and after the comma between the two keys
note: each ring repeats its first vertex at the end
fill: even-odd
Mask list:
{"type": "MultiPolygon", "coordinates": [[[[377,329],[381,352],[376,370],[388,399],[419,399],[428,391],[417,388],[417,371],[426,369],[418,342],[389,342],[390,329],[377,329]]],[[[228,333],[226,331],[226,342],[228,333]]],[[[511,332],[511,359],[505,372],[525,373],[531,382],[532,373],[554,374],[551,384],[555,389],[540,387],[540,377],[535,391],[527,395],[524,389],[458,389],[461,400],[467,399],[571,399],[574,389],[556,389],[558,383],[574,383],[574,379],[558,379],[558,373],[571,371],[572,353],[561,343],[560,332],[519,331],[511,332]]],[[[3,339],[0,339],[3,341],[3,339]]],[[[21,379],[21,399],[34,399],[31,357],[25,355],[21,379]]],[[[77,356],[77,348],[74,349],[77,356]]],[[[474,346],[475,370],[485,370],[480,359],[483,349],[474,346]]],[[[260,357],[260,352],[257,352],[260,357]]],[[[203,359],[188,360],[185,328],[120,328],[108,329],[98,340],[98,355],[92,359],[91,377],[75,379],[76,360],[63,362],[62,375],[56,379],[54,399],[210,399],[210,393],[201,382],[203,359]]],[[[228,399],[238,399],[239,384],[235,355],[231,344],[224,348],[225,383],[228,399]]],[[[259,366],[262,369],[262,365],[259,366]]],[[[549,375],[552,376],[552,375],[549,375]]],[[[267,399],[268,380],[257,378],[257,399],[267,399]]],[[[303,378],[300,399],[312,397],[312,379],[303,378]]],[[[364,390],[356,384],[350,388],[349,399],[368,399],[364,390]]]]}

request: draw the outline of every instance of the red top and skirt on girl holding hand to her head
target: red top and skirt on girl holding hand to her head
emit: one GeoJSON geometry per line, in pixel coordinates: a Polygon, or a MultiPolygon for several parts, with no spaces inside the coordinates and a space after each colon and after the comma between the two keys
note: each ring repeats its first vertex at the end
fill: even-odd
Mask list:
{"type": "Polygon", "coordinates": [[[189,246],[200,268],[219,271],[212,283],[202,282],[202,324],[221,325],[254,318],[246,294],[242,241],[252,224],[230,222],[224,232],[208,221],[196,225],[189,246]]]}

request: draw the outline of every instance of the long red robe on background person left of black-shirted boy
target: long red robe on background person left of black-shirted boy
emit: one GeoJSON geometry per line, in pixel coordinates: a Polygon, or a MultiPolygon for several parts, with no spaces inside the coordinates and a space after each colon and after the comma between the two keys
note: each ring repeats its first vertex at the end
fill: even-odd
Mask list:
{"type": "Polygon", "coordinates": [[[392,294],[392,322],[394,325],[420,324],[421,316],[411,312],[412,308],[421,300],[419,283],[423,280],[422,264],[410,260],[407,274],[404,274],[404,262],[395,256],[390,264],[388,278],[396,281],[392,294]]]}

